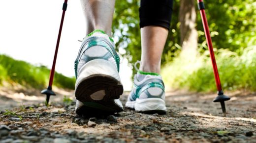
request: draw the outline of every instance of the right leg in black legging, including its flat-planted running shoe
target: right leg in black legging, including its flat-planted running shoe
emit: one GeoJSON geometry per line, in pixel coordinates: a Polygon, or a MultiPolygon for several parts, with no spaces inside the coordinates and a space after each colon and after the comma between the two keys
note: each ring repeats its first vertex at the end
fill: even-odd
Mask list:
{"type": "Polygon", "coordinates": [[[139,112],[166,113],[164,84],[159,73],[170,26],[172,1],[141,0],[141,62],[126,103],[126,107],[139,112]]]}

